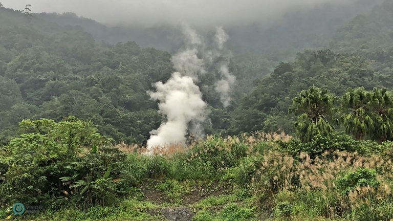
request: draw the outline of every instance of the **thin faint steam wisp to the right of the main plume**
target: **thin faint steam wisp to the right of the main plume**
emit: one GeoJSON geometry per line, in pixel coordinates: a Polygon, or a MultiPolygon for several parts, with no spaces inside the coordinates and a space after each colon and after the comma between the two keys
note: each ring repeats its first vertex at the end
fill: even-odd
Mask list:
{"type": "Polygon", "coordinates": [[[217,49],[219,50],[219,55],[223,57],[223,60],[220,64],[220,75],[221,79],[215,83],[215,91],[219,93],[220,95],[220,100],[221,103],[223,103],[224,107],[227,107],[230,103],[231,100],[231,88],[234,85],[236,81],[236,77],[233,76],[229,72],[228,64],[228,55],[223,55],[224,54],[224,45],[225,42],[228,40],[228,35],[225,33],[224,29],[222,27],[217,27],[214,40],[217,46],[217,49]]]}

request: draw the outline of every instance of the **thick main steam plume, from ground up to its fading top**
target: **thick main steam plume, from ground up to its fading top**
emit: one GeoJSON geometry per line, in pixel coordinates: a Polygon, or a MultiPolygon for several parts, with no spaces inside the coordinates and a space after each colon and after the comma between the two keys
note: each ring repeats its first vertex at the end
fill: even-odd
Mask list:
{"type": "Polygon", "coordinates": [[[187,129],[190,125],[194,134],[203,134],[201,123],[206,119],[207,104],[202,93],[194,82],[204,74],[205,62],[198,57],[203,48],[200,36],[188,26],[183,27],[186,38],[185,47],[172,56],[174,69],[166,82],[154,84],[156,92],[148,92],[151,99],[158,100],[160,112],[166,116],[157,130],[150,132],[147,149],[151,153],[155,148],[163,148],[171,144],[184,145],[187,129]]]}

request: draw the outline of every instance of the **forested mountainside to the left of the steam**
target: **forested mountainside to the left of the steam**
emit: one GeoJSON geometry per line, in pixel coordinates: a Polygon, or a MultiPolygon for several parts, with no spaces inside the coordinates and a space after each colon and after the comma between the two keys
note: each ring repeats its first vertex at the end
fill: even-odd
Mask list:
{"type": "Polygon", "coordinates": [[[101,45],[80,27],[0,8],[1,140],[21,119],[76,115],[138,142],[161,116],[146,91],[172,72],[170,55],[135,42],[101,45]]]}

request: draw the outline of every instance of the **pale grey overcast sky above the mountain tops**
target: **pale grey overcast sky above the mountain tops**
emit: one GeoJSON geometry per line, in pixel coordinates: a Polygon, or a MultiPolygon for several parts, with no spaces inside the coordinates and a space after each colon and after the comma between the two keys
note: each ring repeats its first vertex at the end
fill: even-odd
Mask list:
{"type": "MultiPolygon", "coordinates": [[[[33,12],[74,12],[104,24],[228,25],[276,19],[289,8],[355,0],[0,0],[7,8],[33,12]]],[[[372,0],[370,0],[372,1],[372,0]]]]}

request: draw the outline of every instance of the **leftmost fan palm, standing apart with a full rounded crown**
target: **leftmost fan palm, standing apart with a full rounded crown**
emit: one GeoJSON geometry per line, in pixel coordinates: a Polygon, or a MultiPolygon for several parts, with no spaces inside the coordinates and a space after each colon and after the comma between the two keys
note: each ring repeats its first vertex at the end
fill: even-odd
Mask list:
{"type": "Polygon", "coordinates": [[[316,86],[301,91],[292,100],[289,113],[300,114],[295,128],[297,135],[303,142],[309,142],[320,134],[329,135],[334,131],[334,126],[329,122],[337,111],[335,102],[337,98],[329,90],[316,86]]]}

